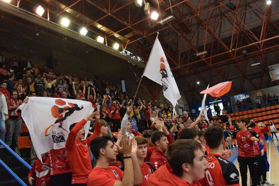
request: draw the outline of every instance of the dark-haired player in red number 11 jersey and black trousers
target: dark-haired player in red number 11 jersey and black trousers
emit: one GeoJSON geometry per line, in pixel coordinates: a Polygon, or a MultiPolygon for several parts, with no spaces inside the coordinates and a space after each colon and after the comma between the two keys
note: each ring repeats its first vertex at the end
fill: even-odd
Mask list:
{"type": "Polygon", "coordinates": [[[263,145],[263,140],[259,139],[259,135],[250,129],[246,128],[248,121],[245,118],[239,118],[236,121],[238,130],[234,131],[232,137],[227,137],[227,141],[236,139],[238,144],[238,157],[239,170],[241,175],[242,186],[247,186],[247,166],[250,172],[250,185],[257,186],[257,161],[254,153],[254,141],[263,145]]]}

